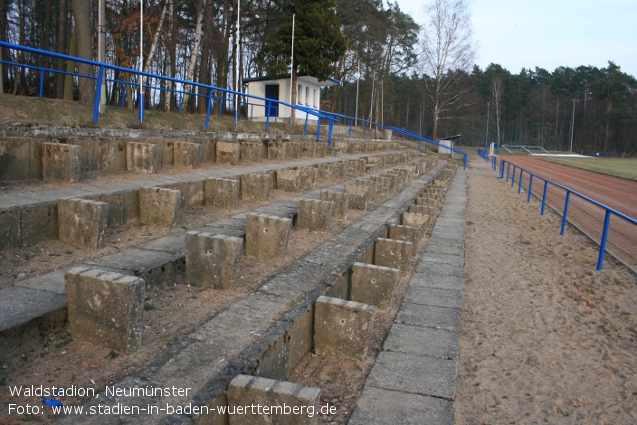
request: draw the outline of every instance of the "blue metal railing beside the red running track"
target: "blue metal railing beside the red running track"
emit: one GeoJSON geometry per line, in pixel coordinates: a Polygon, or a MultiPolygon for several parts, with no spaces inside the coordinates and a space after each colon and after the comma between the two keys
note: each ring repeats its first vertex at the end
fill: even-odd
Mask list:
{"type": "MultiPolygon", "coordinates": [[[[495,158],[494,158],[494,164],[495,164],[495,158]]],[[[495,169],[495,168],[494,168],[495,169]]],[[[570,204],[570,199],[571,199],[571,195],[574,195],[580,199],[583,199],[597,207],[602,208],[605,213],[604,213],[604,224],[603,224],[603,228],[602,228],[602,237],[601,240],[599,242],[599,256],[597,258],[597,270],[602,270],[602,266],[604,264],[604,253],[606,252],[606,242],[608,241],[608,230],[610,227],[610,220],[611,220],[611,216],[612,215],[616,215],[617,217],[627,221],[628,223],[637,226],[637,220],[622,213],[617,211],[614,208],[611,208],[607,205],[602,204],[601,202],[598,202],[594,199],[589,198],[586,195],[582,195],[579,192],[576,192],[566,186],[563,186],[559,183],[556,183],[554,181],[545,179],[544,177],[541,177],[537,174],[534,174],[528,170],[525,170],[522,167],[519,167],[515,164],[512,164],[511,162],[502,159],[500,160],[500,175],[498,176],[498,179],[504,179],[506,178],[506,182],[509,181],[509,178],[511,179],[511,187],[514,187],[515,185],[515,175],[517,170],[520,171],[519,176],[518,176],[518,193],[521,193],[522,191],[522,180],[523,180],[523,176],[524,173],[527,173],[529,175],[529,186],[527,188],[528,190],[528,195],[527,195],[527,200],[526,202],[531,202],[531,196],[533,195],[533,180],[534,179],[538,179],[538,180],[542,180],[544,181],[544,188],[542,190],[542,207],[540,209],[540,215],[544,215],[545,209],[546,209],[546,203],[547,203],[547,194],[548,194],[548,188],[549,185],[553,185],[557,188],[563,189],[566,193],[565,193],[565,198],[564,198],[564,210],[562,211],[562,224],[560,227],[560,235],[564,234],[564,231],[566,229],[566,222],[567,222],[567,216],[568,216],[568,207],[570,204]],[[505,169],[505,165],[506,165],[506,176],[504,175],[504,169],[505,169]],[[511,166],[513,166],[513,170],[511,170],[511,166]]],[[[526,186],[525,186],[526,187],[526,186]]],[[[538,196],[539,199],[539,196],[538,196]]]]}

